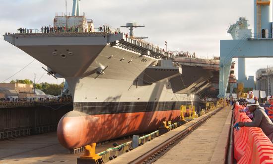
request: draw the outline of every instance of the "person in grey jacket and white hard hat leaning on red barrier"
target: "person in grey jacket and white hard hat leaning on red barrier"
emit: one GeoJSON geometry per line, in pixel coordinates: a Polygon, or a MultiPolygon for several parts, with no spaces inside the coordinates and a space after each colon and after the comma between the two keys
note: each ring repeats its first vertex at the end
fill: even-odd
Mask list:
{"type": "Polygon", "coordinates": [[[257,99],[249,99],[247,106],[249,111],[253,113],[253,121],[238,122],[238,126],[260,127],[273,143],[273,122],[270,120],[265,110],[259,105],[257,99]]]}

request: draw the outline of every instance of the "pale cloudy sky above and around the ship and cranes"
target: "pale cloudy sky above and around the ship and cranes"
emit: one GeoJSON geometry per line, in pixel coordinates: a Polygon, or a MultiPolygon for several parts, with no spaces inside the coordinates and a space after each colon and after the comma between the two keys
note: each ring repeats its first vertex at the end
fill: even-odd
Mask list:
{"type": "MultiPolygon", "coordinates": [[[[55,13],[66,11],[66,0],[0,0],[0,34],[15,33],[18,28],[40,29],[53,25],[55,13]],[[5,7],[4,7],[5,6],[5,7]]],[[[136,36],[146,36],[148,42],[168,50],[195,52],[198,57],[219,56],[220,40],[232,39],[227,29],[239,17],[249,20],[253,29],[253,0],[80,0],[81,12],[93,19],[95,28],[109,24],[119,28],[127,22],[137,22],[136,36]]],[[[67,0],[67,11],[72,11],[72,0],[67,0]]],[[[121,28],[122,32],[128,29],[121,28]]],[[[0,82],[24,68],[34,58],[0,39],[0,82]]],[[[234,59],[237,62],[237,59],[234,59]]],[[[260,68],[273,66],[273,58],[246,59],[246,74],[255,76],[260,68]]],[[[16,79],[36,82],[61,83],[45,74],[38,61],[4,81],[16,79]]],[[[237,77],[237,65],[235,67],[237,77]]]]}

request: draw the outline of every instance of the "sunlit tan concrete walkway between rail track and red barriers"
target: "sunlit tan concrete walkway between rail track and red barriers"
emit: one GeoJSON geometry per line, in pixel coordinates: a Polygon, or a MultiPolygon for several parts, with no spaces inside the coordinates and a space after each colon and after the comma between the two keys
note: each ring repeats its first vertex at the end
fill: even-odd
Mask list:
{"type": "Polygon", "coordinates": [[[223,164],[232,111],[224,108],[154,164],[223,164]]]}

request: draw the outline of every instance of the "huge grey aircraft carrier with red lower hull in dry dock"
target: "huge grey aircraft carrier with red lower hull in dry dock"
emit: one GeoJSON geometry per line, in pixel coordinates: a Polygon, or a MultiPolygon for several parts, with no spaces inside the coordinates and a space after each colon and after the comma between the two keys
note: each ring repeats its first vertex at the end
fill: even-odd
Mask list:
{"type": "Polygon", "coordinates": [[[211,70],[186,66],[184,71],[173,53],[152,43],[119,30],[95,29],[79,12],[78,0],[71,15],[56,14],[53,32],[16,33],[4,40],[68,82],[73,111],[61,118],[57,130],[68,149],[177,121],[181,105],[200,101],[197,93],[212,87],[211,70]]]}

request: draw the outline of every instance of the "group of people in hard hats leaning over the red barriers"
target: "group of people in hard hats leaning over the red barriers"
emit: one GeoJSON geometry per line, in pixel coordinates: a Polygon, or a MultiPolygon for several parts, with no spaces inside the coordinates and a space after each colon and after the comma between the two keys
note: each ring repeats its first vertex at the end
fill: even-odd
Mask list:
{"type": "Polygon", "coordinates": [[[260,105],[253,91],[248,93],[248,98],[235,99],[233,109],[235,105],[243,105],[245,108],[240,112],[245,112],[252,122],[238,122],[234,127],[260,127],[273,143],[273,96],[269,95],[267,101],[260,105]]]}

